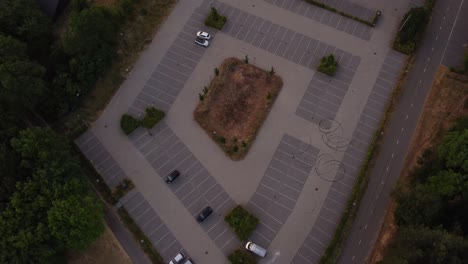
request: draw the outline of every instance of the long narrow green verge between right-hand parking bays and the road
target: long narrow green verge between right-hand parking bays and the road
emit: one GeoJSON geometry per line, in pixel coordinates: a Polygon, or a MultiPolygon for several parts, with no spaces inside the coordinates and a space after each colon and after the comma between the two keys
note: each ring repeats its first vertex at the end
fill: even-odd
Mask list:
{"type": "Polygon", "coordinates": [[[357,177],[356,183],[353,186],[353,190],[351,195],[346,202],[346,207],[343,211],[343,214],[340,218],[340,222],[338,223],[338,227],[335,230],[333,238],[328,245],[325,253],[320,258],[321,264],[331,264],[336,263],[338,257],[341,254],[341,250],[343,247],[343,243],[351,229],[351,226],[354,222],[354,218],[359,211],[359,205],[361,203],[362,197],[366,192],[367,183],[369,182],[369,176],[373,165],[375,164],[379,151],[380,146],[383,141],[384,131],[387,129],[389,125],[389,120],[393,115],[395,110],[395,106],[398,103],[398,99],[401,96],[403,88],[406,84],[406,80],[408,75],[405,73],[406,70],[410,70],[414,64],[414,56],[408,58],[406,62],[406,66],[400,73],[400,80],[398,81],[396,87],[393,89],[392,94],[390,95],[390,100],[388,101],[387,105],[385,106],[385,111],[382,116],[382,119],[379,123],[377,131],[374,133],[372,141],[367,149],[367,154],[364,159],[364,162],[359,170],[359,175],[357,177]]]}

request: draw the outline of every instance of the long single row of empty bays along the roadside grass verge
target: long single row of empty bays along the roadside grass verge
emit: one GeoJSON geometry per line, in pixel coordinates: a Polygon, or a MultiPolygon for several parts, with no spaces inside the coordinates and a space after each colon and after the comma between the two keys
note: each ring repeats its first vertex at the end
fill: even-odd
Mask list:
{"type": "Polygon", "coordinates": [[[398,52],[393,50],[388,52],[358,125],[351,137],[350,144],[341,161],[343,169],[338,170],[334,179],[332,179],[333,183],[320,209],[312,231],[299,248],[292,263],[318,263],[320,256],[325,251],[325,247],[331,241],[335,228],[338,225],[339,217],[345,208],[348,196],[359,174],[359,168],[367,153],[372,135],[377,130],[384,111],[384,105],[398,80],[398,69],[402,68],[405,60],[406,56],[398,52]],[[372,96],[375,94],[378,94],[379,97],[372,96]],[[369,120],[375,120],[375,122],[369,120]]]}

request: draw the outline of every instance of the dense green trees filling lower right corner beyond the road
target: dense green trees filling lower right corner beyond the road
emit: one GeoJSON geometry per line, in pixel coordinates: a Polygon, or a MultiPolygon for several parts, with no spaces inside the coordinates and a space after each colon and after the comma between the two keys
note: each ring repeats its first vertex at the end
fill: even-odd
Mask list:
{"type": "Polygon", "coordinates": [[[382,263],[468,263],[468,117],[424,151],[395,197],[398,230],[382,263]]]}

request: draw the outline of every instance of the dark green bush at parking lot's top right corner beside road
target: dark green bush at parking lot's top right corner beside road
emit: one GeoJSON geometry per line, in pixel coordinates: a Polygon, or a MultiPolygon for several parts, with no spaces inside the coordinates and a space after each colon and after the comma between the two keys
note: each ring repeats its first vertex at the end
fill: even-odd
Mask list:
{"type": "Polygon", "coordinates": [[[429,21],[430,11],[424,7],[411,8],[403,17],[393,47],[405,54],[412,53],[429,21]]]}

